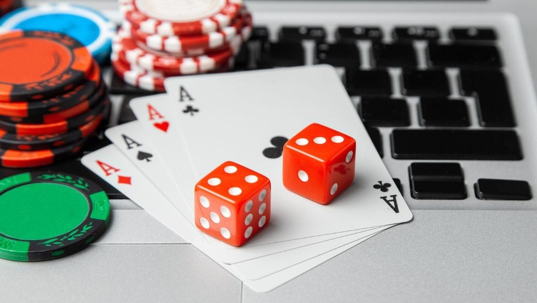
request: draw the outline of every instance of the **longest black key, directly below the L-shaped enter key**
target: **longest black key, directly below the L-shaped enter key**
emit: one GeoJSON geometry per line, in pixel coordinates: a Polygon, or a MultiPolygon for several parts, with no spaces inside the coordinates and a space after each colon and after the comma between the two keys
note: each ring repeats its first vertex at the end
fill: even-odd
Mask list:
{"type": "Polygon", "coordinates": [[[406,130],[391,132],[395,159],[520,160],[517,133],[511,130],[406,130]]]}

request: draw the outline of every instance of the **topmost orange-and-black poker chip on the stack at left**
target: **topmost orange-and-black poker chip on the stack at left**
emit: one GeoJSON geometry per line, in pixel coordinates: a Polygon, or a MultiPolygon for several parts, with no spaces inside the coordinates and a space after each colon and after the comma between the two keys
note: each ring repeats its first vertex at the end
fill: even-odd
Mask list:
{"type": "Polygon", "coordinates": [[[31,101],[71,91],[91,75],[93,58],[61,33],[13,31],[0,35],[0,101],[31,101]]]}

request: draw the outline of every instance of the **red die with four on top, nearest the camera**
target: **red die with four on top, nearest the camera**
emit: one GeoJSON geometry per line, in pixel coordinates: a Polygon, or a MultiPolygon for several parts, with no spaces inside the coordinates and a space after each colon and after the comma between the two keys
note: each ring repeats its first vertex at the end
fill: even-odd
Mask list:
{"type": "Polygon", "coordinates": [[[269,178],[227,161],[194,188],[194,219],[202,232],[241,246],[270,221],[269,178]]]}

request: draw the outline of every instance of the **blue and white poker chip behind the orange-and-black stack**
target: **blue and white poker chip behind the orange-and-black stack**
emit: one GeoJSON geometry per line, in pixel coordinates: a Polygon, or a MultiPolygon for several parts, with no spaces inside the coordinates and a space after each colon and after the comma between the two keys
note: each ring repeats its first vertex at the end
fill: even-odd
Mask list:
{"type": "Polygon", "coordinates": [[[82,42],[93,57],[104,64],[110,60],[115,24],[100,12],[69,3],[44,3],[21,8],[0,19],[0,29],[60,32],[82,42]]]}

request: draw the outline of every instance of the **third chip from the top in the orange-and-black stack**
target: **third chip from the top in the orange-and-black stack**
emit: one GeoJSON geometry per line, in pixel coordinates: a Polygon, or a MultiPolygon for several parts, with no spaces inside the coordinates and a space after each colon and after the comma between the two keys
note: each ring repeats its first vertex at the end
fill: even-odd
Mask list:
{"type": "Polygon", "coordinates": [[[69,130],[80,127],[103,112],[110,106],[108,98],[102,99],[96,106],[81,115],[47,124],[27,124],[27,123],[12,123],[0,120],[0,129],[16,135],[49,135],[49,134],[66,134],[69,130]]]}

